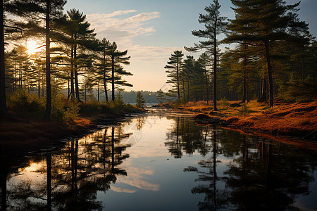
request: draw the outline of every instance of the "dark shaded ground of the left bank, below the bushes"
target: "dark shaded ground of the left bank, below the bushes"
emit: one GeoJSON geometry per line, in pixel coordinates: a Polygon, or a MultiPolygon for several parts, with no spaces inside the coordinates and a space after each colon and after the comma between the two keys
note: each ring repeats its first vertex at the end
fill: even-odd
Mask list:
{"type": "MultiPolygon", "coordinates": [[[[135,113],[141,112],[136,109],[135,113]]],[[[0,153],[23,155],[39,151],[56,140],[83,136],[98,124],[113,124],[125,113],[81,115],[75,120],[44,121],[0,117],[0,153]]]]}

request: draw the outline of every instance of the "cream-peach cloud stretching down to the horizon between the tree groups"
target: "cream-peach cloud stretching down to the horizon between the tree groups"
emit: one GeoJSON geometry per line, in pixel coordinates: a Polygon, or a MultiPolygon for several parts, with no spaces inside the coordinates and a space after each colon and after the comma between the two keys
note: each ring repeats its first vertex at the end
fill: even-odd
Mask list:
{"type": "Polygon", "coordinates": [[[155,27],[151,25],[151,20],[156,18],[160,18],[160,13],[157,11],[137,13],[135,10],[87,15],[87,20],[95,29],[97,38],[116,41],[120,51],[128,49],[131,65],[125,66],[125,70],[132,72],[134,76],[124,77],[124,79],[132,82],[135,87],[125,87],[127,90],[144,89],[142,88],[142,84],[145,83],[144,77],[147,77],[149,81],[147,89],[151,87],[151,89],[159,90],[161,84],[165,84],[166,81],[163,67],[170,53],[183,50],[173,46],[142,46],[142,44],[134,43],[135,37],[149,36],[156,32],[155,27]]]}

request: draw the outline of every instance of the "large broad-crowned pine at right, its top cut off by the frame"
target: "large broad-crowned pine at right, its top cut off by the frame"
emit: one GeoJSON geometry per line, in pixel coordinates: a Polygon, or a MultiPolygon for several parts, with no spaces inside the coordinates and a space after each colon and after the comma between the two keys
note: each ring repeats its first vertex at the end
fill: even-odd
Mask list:
{"type": "MultiPolygon", "coordinates": [[[[282,0],[232,0],[236,17],[228,25],[230,34],[227,42],[238,42],[258,46],[258,52],[266,58],[270,107],[273,103],[273,65],[272,51],[277,41],[302,42],[308,25],[297,18],[296,7],[285,5],[282,0]],[[293,32],[297,31],[296,34],[293,32]]],[[[264,87],[264,86],[263,86],[264,87]]]]}

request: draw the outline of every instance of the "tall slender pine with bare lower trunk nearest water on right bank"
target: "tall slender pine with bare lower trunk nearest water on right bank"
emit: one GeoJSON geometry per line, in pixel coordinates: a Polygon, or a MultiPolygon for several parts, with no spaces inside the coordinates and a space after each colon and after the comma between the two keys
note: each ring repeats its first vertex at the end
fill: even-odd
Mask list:
{"type": "Polygon", "coordinates": [[[220,4],[218,0],[213,0],[213,4],[206,6],[206,15],[199,14],[199,23],[203,23],[205,30],[192,31],[196,37],[205,38],[207,40],[199,41],[199,44],[194,44],[194,47],[185,47],[187,51],[200,51],[206,49],[213,56],[213,108],[217,110],[217,66],[218,66],[218,34],[225,32],[227,18],[220,16],[220,4]]]}

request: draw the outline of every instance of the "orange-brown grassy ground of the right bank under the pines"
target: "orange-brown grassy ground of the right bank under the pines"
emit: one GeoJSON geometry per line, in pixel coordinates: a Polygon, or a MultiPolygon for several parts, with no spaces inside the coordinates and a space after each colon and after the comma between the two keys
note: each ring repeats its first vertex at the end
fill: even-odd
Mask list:
{"type": "Polygon", "coordinates": [[[251,101],[247,107],[238,101],[218,102],[218,111],[200,101],[185,105],[173,106],[163,104],[168,108],[184,110],[192,113],[204,113],[209,117],[219,118],[225,127],[245,131],[261,132],[274,136],[296,136],[302,139],[316,141],[317,138],[317,102],[284,103],[275,100],[275,106],[268,108],[267,103],[251,101]]]}

